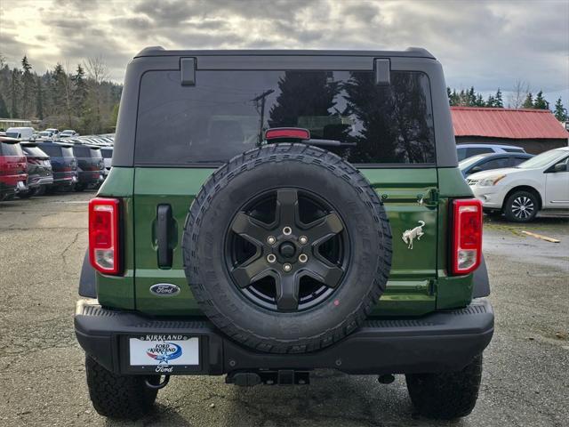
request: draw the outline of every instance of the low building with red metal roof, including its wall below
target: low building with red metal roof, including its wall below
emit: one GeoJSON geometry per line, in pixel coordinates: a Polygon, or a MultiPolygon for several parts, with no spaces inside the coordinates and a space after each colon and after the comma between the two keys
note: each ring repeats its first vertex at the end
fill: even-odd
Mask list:
{"type": "Polygon", "coordinates": [[[538,154],[564,147],[569,133],[548,109],[451,107],[454,136],[461,143],[500,143],[538,154]]]}

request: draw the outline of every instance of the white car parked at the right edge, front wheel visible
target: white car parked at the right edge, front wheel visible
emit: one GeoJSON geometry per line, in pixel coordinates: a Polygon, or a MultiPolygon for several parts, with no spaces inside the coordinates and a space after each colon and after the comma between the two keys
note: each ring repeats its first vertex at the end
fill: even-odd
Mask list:
{"type": "Polygon", "coordinates": [[[488,214],[530,222],[542,209],[569,209],[569,147],[550,149],[516,167],[473,173],[467,179],[488,214]]]}

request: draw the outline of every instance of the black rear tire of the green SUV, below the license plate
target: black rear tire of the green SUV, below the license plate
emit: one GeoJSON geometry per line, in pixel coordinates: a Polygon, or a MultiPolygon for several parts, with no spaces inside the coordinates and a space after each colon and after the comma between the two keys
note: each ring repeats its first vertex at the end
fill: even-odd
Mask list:
{"type": "MultiPolygon", "coordinates": [[[[142,375],[116,375],[85,356],[87,387],[92,406],[103,416],[136,420],[148,414],[156,400],[156,389],[144,383],[142,375]]],[[[155,378],[153,377],[153,382],[155,378]]],[[[156,376],[156,383],[159,376],[156,376]]]]}

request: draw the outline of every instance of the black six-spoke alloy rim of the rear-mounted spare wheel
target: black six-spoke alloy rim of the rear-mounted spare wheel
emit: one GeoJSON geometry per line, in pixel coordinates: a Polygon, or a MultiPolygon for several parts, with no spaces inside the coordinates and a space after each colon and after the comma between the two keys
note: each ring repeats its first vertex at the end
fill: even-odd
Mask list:
{"type": "Polygon", "coordinates": [[[269,310],[309,310],[340,286],[349,237],[332,205],[291,188],[262,193],[228,229],[228,269],[246,298],[269,310]]]}

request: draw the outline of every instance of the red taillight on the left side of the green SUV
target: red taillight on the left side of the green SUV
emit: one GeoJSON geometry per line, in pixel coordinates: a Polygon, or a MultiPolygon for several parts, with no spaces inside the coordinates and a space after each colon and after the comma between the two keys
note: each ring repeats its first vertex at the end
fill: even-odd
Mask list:
{"type": "Polygon", "coordinates": [[[89,202],[89,259],[94,269],[105,274],[120,271],[116,198],[93,198],[89,202]]]}

